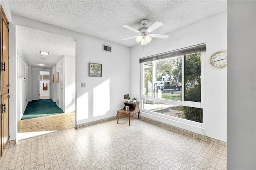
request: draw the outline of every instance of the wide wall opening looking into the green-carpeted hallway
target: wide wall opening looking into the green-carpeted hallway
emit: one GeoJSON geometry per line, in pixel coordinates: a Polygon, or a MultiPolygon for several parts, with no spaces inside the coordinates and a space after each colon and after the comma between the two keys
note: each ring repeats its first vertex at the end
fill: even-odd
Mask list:
{"type": "MultiPolygon", "coordinates": [[[[24,89],[27,89],[25,94],[28,94],[27,100],[20,97],[18,103],[26,106],[32,101],[51,101],[55,102],[55,105],[64,112],[56,114],[57,112],[51,109],[54,115],[18,120],[16,142],[35,135],[74,128],[75,40],[23,26],[16,26],[16,32],[20,55],[28,65],[28,69],[18,68],[19,70],[28,70],[27,81],[24,83],[24,89]],[[39,51],[48,51],[49,53],[43,55],[39,51]]],[[[24,109],[20,112],[21,117],[24,114],[24,109]]],[[[42,110],[46,111],[47,109],[50,108],[45,106],[42,110]]]]}

